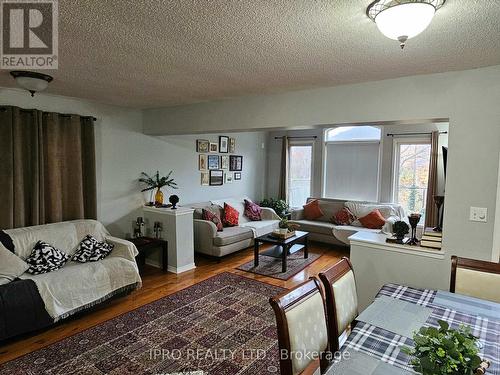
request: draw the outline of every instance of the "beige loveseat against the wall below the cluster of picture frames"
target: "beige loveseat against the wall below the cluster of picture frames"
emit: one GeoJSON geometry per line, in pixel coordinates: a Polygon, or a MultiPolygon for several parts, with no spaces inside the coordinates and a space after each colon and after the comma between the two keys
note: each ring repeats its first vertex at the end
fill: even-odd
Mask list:
{"type": "Polygon", "coordinates": [[[223,257],[253,245],[255,237],[272,232],[278,227],[279,216],[273,209],[262,207],[262,220],[251,221],[245,215],[244,199],[228,198],[209,202],[192,204],[194,211],[194,249],[196,252],[214,257],[223,257]],[[214,223],[202,220],[202,209],[219,211],[222,217],[224,202],[234,207],[239,212],[239,225],[237,227],[224,227],[222,232],[217,232],[214,223]]]}

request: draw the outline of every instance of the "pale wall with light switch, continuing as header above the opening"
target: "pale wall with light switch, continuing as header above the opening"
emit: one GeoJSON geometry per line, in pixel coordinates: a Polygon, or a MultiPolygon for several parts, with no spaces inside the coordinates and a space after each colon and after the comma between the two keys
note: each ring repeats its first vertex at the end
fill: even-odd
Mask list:
{"type": "MultiPolygon", "coordinates": [[[[500,66],[242,97],[144,111],[145,132],[310,128],[450,119],[445,236],[449,255],[491,259],[500,149],[500,66]],[[488,208],[487,223],[469,207],[488,208]]],[[[443,266],[448,278],[449,263],[443,266]]]]}

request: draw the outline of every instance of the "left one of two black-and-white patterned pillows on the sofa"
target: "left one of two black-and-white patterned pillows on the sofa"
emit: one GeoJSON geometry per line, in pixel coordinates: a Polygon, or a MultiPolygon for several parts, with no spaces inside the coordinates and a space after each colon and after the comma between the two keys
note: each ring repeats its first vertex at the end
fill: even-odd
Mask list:
{"type": "Polygon", "coordinates": [[[30,256],[26,258],[26,263],[29,265],[29,273],[39,275],[58,270],[68,259],[69,256],[63,251],[46,242],[38,241],[30,256]]]}

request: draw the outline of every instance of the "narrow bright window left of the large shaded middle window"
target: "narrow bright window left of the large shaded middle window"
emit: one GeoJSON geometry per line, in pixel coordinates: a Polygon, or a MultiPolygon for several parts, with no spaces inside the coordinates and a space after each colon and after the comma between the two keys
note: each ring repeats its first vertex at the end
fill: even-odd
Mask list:
{"type": "Polygon", "coordinates": [[[302,207],[311,196],[312,143],[294,143],[289,149],[288,203],[302,207]]]}

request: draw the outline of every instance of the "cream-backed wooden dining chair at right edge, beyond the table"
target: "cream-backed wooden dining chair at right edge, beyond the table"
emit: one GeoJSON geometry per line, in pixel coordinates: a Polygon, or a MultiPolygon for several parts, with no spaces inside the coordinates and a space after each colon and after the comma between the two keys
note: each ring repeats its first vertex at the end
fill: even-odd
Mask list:
{"type": "Polygon", "coordinates": [[[500,302],[500,263],[453,255],[450,292],[500,302]]]}

